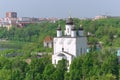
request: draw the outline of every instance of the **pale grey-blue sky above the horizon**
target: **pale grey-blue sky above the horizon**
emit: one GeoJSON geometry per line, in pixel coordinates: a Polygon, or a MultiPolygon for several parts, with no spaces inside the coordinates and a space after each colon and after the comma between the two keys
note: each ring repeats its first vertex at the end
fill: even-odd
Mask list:
{"type": "Polygon", "coordinates": [[[8,11],[18,17],[120,16],[120,0],[0,0],[0,17],[8,11]]]}

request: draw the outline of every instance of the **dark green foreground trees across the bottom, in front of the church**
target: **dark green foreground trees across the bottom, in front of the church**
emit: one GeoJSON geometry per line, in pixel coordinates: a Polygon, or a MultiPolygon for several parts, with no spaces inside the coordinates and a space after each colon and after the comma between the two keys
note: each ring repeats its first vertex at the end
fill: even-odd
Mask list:
{"type": "Polygon", "coordinates": [[[51,57],[31,58],[28,64],[21,57],[0,57],[0,79],[13,80],[118,80],[119,64],[114,51],[91,52],[74,58],[67,71],[67,61],[56,67],[51,57]],[[2,72],[2,73],[1,73],[2,72]],[[6,75],[3,75],[6,74],[6,75]],[[10,74],[10,75],[9,75],[10,74]]]}

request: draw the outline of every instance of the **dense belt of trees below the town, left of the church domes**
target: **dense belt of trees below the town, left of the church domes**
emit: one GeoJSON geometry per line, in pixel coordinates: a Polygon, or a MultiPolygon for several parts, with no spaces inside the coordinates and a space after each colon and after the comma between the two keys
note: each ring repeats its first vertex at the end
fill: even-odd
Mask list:
{"type": "Polygon", "coordinates": [[[56,24],[45,22],[30,24],[24,28],[12,27],[9,31],[1,28],[0,38],[12,41],[39,42],[39,40],[43,41],[43,38],[48,34],[54,36],[55,32],[53,30],[56,26],[56,24]]]}

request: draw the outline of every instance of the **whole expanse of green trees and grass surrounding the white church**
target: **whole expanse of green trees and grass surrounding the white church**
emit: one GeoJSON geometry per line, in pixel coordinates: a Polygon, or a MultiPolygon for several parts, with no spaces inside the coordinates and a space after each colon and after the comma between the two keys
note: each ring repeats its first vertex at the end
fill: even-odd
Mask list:
{"type": "Polygon", "coordinates": [[[7,40],[0,41],[0,46],[8,48],[0,51],[0,80],[119,80],[120,66],[111,47],[120,47],[120,18],[74,18],[74,22],[77,28],[80,24],[83,25],[86,35],[87,32],[91,33],[88,37],[91,52],[75,58],[69,71],[66,60],[61,60],[54,66],[51,55],[37,58],[36,54],[32,54],[52,52],[52,49],[43,48],[43,39],[47,35],[55,36],[58,24],[64,29],[65,20],[30,24],[24,28],[12,27],[9,31],[0,28],[0,39],[7,40]],[[95,52],[96,43],[99,42],[102,49],[95,52]],[[22,55],[13,55],[14,53],[22,55]],[[26,59],[31,62],[26,63],[26,59]]]}

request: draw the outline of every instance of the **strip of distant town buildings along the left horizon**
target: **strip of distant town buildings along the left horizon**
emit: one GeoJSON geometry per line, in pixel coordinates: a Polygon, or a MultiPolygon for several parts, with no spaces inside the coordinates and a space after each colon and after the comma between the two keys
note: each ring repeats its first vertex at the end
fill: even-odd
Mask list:
{"type": "Polygon", "coordinates": [[[35,18],[35,17],[17,17],[17,12],[6,12],[5,18],[0,18],[0,27],[6,27],[8,30],[12,26],[23,28],[28,24],[40,23],[40,22],[52,22],[55,23],[57,18],[35,18]]]}

